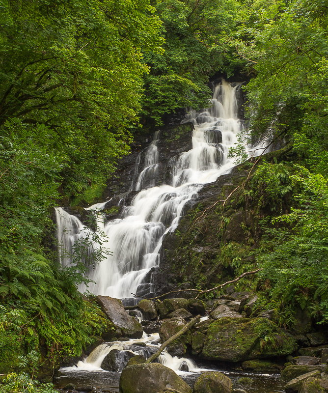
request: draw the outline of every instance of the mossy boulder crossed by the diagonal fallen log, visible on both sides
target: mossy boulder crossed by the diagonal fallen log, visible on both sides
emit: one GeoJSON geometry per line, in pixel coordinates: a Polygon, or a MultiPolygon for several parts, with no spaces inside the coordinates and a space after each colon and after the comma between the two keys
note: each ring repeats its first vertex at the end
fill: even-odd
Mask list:
{"type": "MultiPolygon", "coordinates": [[[[166,341],[176,333],[178,333],[184,326],[186,321],[183,318],[171,318],[163,323],[159,330],[162,342],[166,341]]],[[[173,341],[168,347],[167,352],[172,356],[183,356],[187,351],[187,343],[191,344],[191,333],[186,332],[183,336],[173,341]]]]}

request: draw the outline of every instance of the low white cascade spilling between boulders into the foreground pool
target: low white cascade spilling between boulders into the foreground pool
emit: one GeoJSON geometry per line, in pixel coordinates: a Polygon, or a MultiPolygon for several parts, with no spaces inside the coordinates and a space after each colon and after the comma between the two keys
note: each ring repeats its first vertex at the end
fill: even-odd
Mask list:
{"type": "MultiPolygon", "coordinates": [[[[156,350],[160,347],[160,344],[157,344],[157,342],[160,341],[160,336],[158,333],[153,333],[149,337],[145,333],[143,335],[144,337],[139,339],[130,339],[129,341],[123,341],[123,342],[122,341],[106,342],[104,344],[98,345],[86,359],[84,359],[83,361],[79,361],[76,366],[64,367],[62,368],[62,371],[79,371],[79,370],[105,371],[101,368],[101,364],[105,359],[105,357],[113,349],[131,352],[134,355],[140,355],[140,354],[142,355],[142,353],[131,350],[131,346],[139,342],[144,342],[147,346],[155,348],[156,350]]],[[[197,365],[191,359],[178,358],[177,356],[172,357],[166,351],[166,348],[159,356],[158,360],[162,365],[171,368],[179,375],[187,374],[187,371],[179,370],[179,367],[183,362],[187,363],[189,372],[209,371],[208,369],[197,367],[197,365]]]]}

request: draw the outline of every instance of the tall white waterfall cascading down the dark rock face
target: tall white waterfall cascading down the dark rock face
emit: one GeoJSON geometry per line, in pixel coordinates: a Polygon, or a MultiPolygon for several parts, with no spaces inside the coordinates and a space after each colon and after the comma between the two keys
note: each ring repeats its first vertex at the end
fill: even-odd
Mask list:
{"type": "MultiPolygon", "coordinates": [[[[233,167],[233,160],[227,158],[227,154],[242,129],[242,122],[237,118],[237,86],[222,80],[215,88],[213,106],[203,112],[191,111],[183,121],[194,124],[192,149],[170,160],[171,184],[156,186],[159,169],[157,144],[161,138],[160,132],[156,132],[145,152],[143,168],[140,168],[141,155],[137,158],[137,180],[130,190],[141,191],[131,206],[124,209],[120,218],[106,224],[99,212],[105,202],[88,208],[94,212],[98,228],[107,235],[103,246],[111,255],[89,270],[89,278],[94,283],[91,282],[88,288],[82,284],[80,291],[89,289],[96,295],[115,298],[153,292],[150,272],[159,265],[163,236],[175,230],[184,205],[197,197],[202,184],[215,181],[233,167]]],[[[71,252],[74,242],[86,236],[90,229],[61,208],[56,209],[56,219],[60,248],[71,252]]],[[[67,256],[60,258],[63,266],[69,264],[67,256]]]]}

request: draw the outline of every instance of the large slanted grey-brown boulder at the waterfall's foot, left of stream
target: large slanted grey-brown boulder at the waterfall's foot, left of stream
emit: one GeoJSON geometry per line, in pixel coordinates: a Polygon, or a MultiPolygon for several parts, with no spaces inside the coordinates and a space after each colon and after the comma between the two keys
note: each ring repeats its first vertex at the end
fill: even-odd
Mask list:
{"type": "MultiPolygon", "coordinates": [[[[99,295],[96,297],[96,302],[107,315],[109,321],[122,331],[123,336],[142,337],[142,326],[135,317],[127,313],[119,299],[99,295]]],[[[116,334],[115,336],[117,337],[116,334]]]]}

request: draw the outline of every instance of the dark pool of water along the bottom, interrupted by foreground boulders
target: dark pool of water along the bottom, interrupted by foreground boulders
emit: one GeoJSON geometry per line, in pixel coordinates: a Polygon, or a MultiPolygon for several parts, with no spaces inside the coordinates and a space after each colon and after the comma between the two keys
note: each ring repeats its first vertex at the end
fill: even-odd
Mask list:
{"type": "MultiPolygon", "coordinates": [[[[215,369],[211,367],[211,370],[215,369]]],[[[271,392],[284,392],[284,384],[279,380],[279,374],[260,374],[248,373],[245,371],[221,371],[232,380],[232,389],[244,389],[247,393],[271,393],[271,392]],[[242,377],[248,377],[253,380],[250,385],[241,385],[237,381],[242,377]]],[[[60,376],[54,380],[57,389],[64,388],[67,384],[74,384],[79,391],[89,392],[92,388],[102,390],[103,392],[119,392],[119,379],[120,373],[111,371],[67,371],[60,370],[60,376]]],[[[186,372],[180,377],[193,387],[196,379],[200,373],[186,372]]],[[[94,389],[95,390],[95,389],[94,389]]]]}

